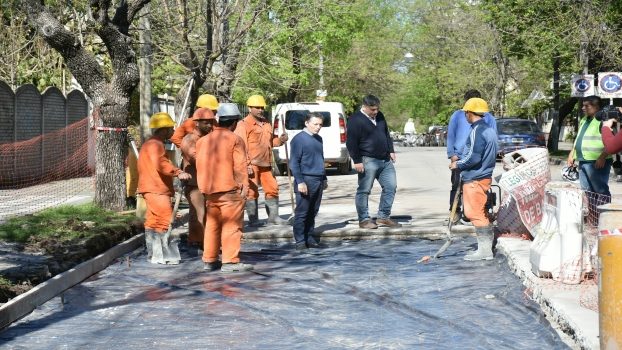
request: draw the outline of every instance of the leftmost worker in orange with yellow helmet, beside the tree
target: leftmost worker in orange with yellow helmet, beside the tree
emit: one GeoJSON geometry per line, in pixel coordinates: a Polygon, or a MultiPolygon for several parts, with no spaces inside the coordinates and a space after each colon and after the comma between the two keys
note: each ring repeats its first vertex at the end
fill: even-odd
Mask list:
{"type": "Polygon", "coordinates": [[[166,157],[164,140],[173,135],[175,122],[168,113],[159,112],[149,119],[151,138],[143,143],[138,156],[138,189],[147,203],[145,242],[147,255],[154,264],[179,264],[177,240],[171,239],[168,226],[173,215],[173,177],[190,180],[191,175],[175,167],[166,157]]]}

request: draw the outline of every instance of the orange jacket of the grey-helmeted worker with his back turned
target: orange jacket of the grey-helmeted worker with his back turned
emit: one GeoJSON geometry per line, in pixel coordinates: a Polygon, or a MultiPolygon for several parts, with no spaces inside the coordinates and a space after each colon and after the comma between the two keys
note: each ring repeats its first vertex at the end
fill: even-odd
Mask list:
{"type": "Polygon", "coordinates": [[[238,135],[215,126],[197,141],[196,149],[197,182],[203,194],[248,189],[248,158],[238,135]]]}

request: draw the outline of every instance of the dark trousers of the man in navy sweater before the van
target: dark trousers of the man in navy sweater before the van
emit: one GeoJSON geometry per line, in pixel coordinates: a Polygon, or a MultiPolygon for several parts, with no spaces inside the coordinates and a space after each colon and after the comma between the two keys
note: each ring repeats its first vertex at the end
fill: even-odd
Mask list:
{"type": "Polygon", "coordinates": [[[315,242],[311,236],[315,227],[315,216],[320,210],[322,193],[324,192],[323,176],[303,176],[307,184],[307,194],[298,192],[298,184],[294,184],[296,191],[296,211],[294,216],[294,239],[296,243],[315,242]]]}

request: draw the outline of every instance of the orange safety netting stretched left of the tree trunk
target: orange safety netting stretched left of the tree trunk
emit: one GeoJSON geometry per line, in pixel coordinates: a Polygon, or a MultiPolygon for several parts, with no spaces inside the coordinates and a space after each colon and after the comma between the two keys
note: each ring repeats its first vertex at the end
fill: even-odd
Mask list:
{"type": "Polygon", "coordinates": [[[0,221],[93,192],[88,118],[25,141],[0,145],[0,221]]]}

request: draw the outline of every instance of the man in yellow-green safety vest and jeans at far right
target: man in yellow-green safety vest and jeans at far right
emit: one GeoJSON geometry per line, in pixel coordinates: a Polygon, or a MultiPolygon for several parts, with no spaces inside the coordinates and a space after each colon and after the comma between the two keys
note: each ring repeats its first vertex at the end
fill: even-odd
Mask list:
{"type": "Polygon", "coordinates": [[[601,135],[601,121],[594,116],[600,110],[600,97],[588,96],[583,99],[581,110],[585,116],[579,122],[579,132],[572,150],[568,154],[567,165],[579,162],[579,183],[588,193],[591,224],[596,217],[596,207],[611,202],[609,192],[609,173],[613,159],[605,150],[601,135]]]}

